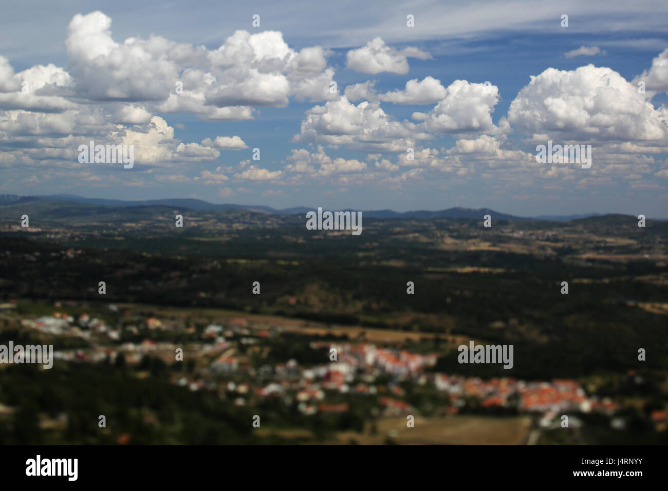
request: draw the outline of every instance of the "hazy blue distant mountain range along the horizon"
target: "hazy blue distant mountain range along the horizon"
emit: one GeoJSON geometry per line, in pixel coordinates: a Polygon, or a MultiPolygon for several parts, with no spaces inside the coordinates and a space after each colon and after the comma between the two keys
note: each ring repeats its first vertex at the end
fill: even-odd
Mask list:
{"type": "MultiPolygon", "coordinates": [[[[103,198],[83,198],[74,194],[51,194],[47,196],[19,196],[16,194],[0,194],[0,206],[5,204],[17,204],[18,202],[29,202],[33,200],[58,200],[63,202],[73,202],[79,204],[92,204],[96,206],[174,206],[176,208],[188,208],[190,210],[246,210],[258,213],[268,214],[305,214],[310,210],[307,206],[296,206],[294,208],[284,208],[276,210],[270,206],[246,205],[246,204],[213,204],[202,200],[191,198],[168,198],[163,200],[108,200],[103,198]]],[[[345,210],[358,211],[358,210],[345,210]]],[[[364,216],[371,218],[482,218],[490,214],[496,220],[550,220],[567,221],[578,218],[589,218],[591,216],[602,216],[601,213],[586,213],[573,215],[539,215],[539,216],[514,216],[506,213],[497,212],[490,208],[448,208],[447,210],[430,211],[415,210],[407,212],[396,212],[393,210],[361,210],[364,216]]]]}

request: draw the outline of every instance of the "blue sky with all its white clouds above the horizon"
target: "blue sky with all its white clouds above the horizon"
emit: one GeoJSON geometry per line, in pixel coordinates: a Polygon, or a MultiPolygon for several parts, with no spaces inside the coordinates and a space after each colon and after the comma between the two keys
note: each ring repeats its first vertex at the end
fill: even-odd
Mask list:
{"type": "Polygon", "coordinates": [[[0,193],[668,218],[667,102],[665,1],[23,1],[0,193]]]}

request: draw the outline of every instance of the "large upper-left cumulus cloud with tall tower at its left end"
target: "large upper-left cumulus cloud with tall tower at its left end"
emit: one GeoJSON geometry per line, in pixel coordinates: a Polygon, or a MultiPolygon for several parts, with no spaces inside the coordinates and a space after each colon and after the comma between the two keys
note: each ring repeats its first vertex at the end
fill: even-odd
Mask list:
{"type": "Polygon", "coordinates": [[[111,25],[99,11],[77,14],[69,23],[65,47],[81,97],[152,102],[163,112],[242,120],[251,117],[251,106],[287,106],[290,95],[313,101],[331,96],[328,52],[322,47],[297,52],[279,31],[239,30],[208,50],[155,35],[118,43],[111,25]],[[225,108],[234,109],[220,111],[225,108]]]}

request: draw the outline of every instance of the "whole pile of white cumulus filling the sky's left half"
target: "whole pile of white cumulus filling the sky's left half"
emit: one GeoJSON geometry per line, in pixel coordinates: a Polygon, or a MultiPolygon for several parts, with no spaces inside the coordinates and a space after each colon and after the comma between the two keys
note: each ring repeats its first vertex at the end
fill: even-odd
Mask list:
{"type": "MultiPolygon", "coordinates": [[[[277,31],[236,31],[209,50],[154,35],[116,41],[111,28],[100,11],[75,15],[65,38],[67,71],[49,63],[17,73],[0,56],[0,164],[18,168],[47,159],[77,167],[76,148],[90,140],[132,144],[136,162],[154,167],[208,162],[220,150],[248,146],[238,136],[181,142],[153,114],[249,120],[259,114],[253,106],[285,106],[291,95],[338,97],[329,94],[329,51],[297,52],[277,31]]],[[[274,174],[249,169],[247,175],[274,174]]]]}

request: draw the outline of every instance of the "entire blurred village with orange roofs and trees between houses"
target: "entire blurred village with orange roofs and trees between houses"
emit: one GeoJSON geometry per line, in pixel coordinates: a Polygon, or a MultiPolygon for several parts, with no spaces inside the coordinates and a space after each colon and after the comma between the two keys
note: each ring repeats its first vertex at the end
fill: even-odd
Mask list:
{"type": "MultiPolygon", "coordinates": [[[[121,358],[122,363],[140,369],[148,366],[148,358],[160,359],[169,367],[174,385],[192,392],[216,391],[238,407],[273,400],[296,407],[303,416],[341,414],[351,407],[350,399],[341,397],[364,397],[379,407],[381,416],[405,417],[420,414],[421,408],[406,397],[407,389],[418,387],[442,395],[437,414],[443,416],[501,410],[533,415],[541,428],[554,428],[564,414],[577,424],[576,414],[596,412],[610,418],[613,428],[625,426],[623,418],[615,417],[618,403],[587,393],[572,379],[526,381],[438,373],[433,371],[438,353],[411,353],[397,342],[383,346],[313,339],[307,343],[306,361],[291,357],[271,362],[269,353],[283,334],[280,325],[249,323],[244,317],[186,325],[130,315],[116,305],[109,305],[108,313],[124,321],[110,325],[102,316],[70,315],[56,309],[51,315],[22,318],[20,323],[44,339],[86,342],[86,347],[55,349],[55,369],[58,362],[119,363],[121,358]],[[170,336],[184,341],[167,341],[170,336]]],[[[658,424],[665,414],[653,418],[658,424]]]]}

